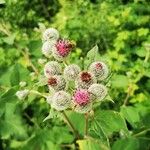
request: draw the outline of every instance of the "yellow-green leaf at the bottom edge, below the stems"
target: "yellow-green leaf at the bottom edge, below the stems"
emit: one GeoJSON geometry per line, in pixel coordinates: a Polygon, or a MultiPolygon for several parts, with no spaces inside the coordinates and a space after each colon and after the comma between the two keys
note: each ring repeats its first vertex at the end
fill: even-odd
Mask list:
{"type": "Polygon", "coordinates": [[[109,150],[109,148],[98,140],[78,140],[80,150],[109,150]]]}

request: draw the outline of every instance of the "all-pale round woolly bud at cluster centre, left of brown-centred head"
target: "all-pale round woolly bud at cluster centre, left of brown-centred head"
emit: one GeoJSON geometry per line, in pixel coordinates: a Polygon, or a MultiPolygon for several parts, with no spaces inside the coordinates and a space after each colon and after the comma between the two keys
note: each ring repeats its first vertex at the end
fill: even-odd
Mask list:
{"type": "Polygon", "coordinates": [[[64,77],[67,80],[75,80],[80,71],[81,69],[78,65],[75,64],[69,65],[64,69],[64,77]]]}

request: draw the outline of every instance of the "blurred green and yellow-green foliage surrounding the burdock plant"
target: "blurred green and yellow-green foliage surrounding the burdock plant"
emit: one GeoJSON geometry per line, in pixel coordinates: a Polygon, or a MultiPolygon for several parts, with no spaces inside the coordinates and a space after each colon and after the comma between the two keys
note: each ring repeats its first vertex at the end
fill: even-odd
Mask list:
{"type": "MultiPolygon", "coordinates": [[[[0,0],[0,149],[149,150],[149,29],[149,0],[0,0]],[[97,141],[75,142],[61,116],[43,122],[50,111],[44,99],[15,96],[20,81],[30,89],[37,82],[34,66],[42,72],[44,25],[76,41],[70,62],[83,62],[97,44],[110,66],[114,103],[100,105],[90,121],[89,134],[97,141]]],[[[68,116],[82,135],[84,117],[68,116]]]]}

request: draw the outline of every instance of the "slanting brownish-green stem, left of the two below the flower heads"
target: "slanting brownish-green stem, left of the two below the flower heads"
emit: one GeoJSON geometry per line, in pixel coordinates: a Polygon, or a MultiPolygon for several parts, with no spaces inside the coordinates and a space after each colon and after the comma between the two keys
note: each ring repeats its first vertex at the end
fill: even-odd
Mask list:
{"type": "Polygon", "coordinates": [[[77,139],[79,139],[79,138],[80,138],[79,133],[78,133],[78,131],[75,129],[75,127],[73,126],[73,124],[71,123],[71,121],[69,120],[69,118],[68,118],[68,116],[66,115],[66,113],[63,111],[62,114],[63,114],[63,116],[64,116],[64,118],[65,118],[67,124],[70,126],[71,130],[73,131],[75,137],[76,137],[77,139]]]}

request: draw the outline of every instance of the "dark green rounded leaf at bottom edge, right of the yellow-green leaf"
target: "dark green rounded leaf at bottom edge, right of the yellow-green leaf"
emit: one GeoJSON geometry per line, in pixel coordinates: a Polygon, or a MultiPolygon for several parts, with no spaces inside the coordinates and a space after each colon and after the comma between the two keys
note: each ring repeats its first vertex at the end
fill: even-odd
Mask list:
{"type": "Polygon", "coordinates": [[[139,143],[137,139],[127,138],[121,139],[114,143],[112,150],[139,150],[139,143]]]}

